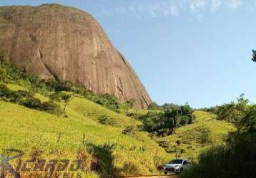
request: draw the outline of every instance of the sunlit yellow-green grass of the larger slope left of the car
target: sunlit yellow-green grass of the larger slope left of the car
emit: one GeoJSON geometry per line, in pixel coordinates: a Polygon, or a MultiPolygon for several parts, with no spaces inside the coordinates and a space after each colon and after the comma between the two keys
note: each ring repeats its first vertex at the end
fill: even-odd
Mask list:
{"type": "MultiPolygon", "coordinates": [[[[8,87],[11,90],[26,89],[13,84],[8,87]]],[[[42,95],[36,96],[46,100],[42,95]]],[[[147,132],[122,134],[127,126],[140,125],[139,121],[86,98],[76,97],[69,103],[68,117],[57,117],[4,101],[0,101],[0,108],[0,147],[24,150],[28,158],[39,150],[44,159],[75,159],[80,152],[87,152],[88,142],[95,147],[112,145],[110,153],[103,150],[103,157],[98,159],[112,157],[104,164],[110,169],[112,166],[118,176],[154,174],[158,172],[157,165],[170,159],[164,149],[147,136],[147,132]],[[111,120],[107,122],[110,125],[99,123],[102,116],[111,120]]]]}

